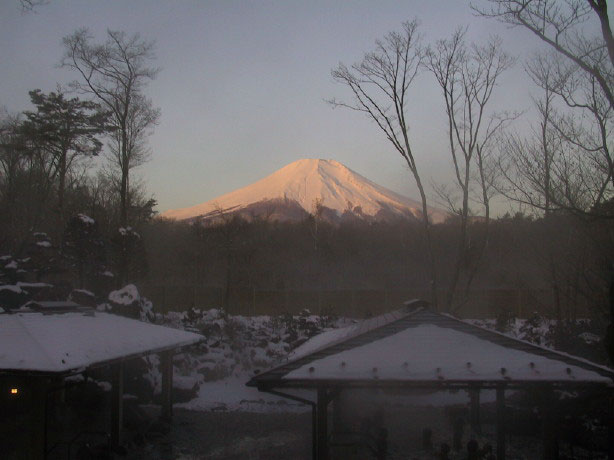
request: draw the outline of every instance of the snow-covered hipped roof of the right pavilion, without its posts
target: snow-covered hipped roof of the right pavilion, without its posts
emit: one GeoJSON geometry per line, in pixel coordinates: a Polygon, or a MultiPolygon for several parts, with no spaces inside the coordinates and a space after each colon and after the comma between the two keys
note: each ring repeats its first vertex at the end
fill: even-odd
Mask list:
{"type": "Polygon", "coordinates": [[[614,383],[614,371],[604,366],[424,308],[371,318],[314,342],[248,385],[614,383]]]}

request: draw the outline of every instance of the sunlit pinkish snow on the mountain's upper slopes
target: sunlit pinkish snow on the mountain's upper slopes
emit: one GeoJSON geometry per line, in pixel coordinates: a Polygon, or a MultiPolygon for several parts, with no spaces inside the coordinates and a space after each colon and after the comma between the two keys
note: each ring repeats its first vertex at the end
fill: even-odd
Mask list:
{"type": "MultiPolygon", "coordinates": [[[[360,207],[362,214],[375,216],[380,210],[399,215],[422,215],[422,204],[399,195],[335,160],[302,159],[284,166],[251,185],[205,203],[182,209],[170,209],[162,217],[183,220],[207,215],[218,210],[239,210],[261,201],[285,199],[296,201],[307,212],[314,211],[316,200],[334,209],[339,215],[360,207]]],[[[431,208],[429,218],[439,223],[445,211],[431,208]]]]}

